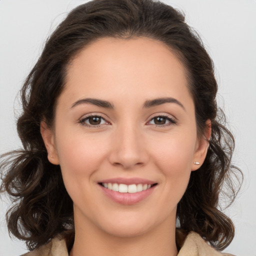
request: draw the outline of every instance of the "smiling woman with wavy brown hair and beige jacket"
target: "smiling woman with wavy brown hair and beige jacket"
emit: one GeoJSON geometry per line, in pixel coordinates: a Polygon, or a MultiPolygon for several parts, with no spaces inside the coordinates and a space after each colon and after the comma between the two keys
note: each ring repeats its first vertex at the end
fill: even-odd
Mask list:
{"type": "Polygon", "coordinates": [[[20,199],[8,228],[27,255],[219,255],[234,235],[219,192],[235,168],[216,91],[211,59],[172,7],[71,11],[22,87],[24,150],[1,164],[20,199]]]}

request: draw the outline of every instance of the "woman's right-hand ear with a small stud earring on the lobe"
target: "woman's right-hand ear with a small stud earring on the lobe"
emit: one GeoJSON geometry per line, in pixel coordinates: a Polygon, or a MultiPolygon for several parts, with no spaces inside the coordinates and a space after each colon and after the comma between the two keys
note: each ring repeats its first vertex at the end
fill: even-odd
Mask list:
{"type": "Polygon", "coordinates": [[[210,139],[210,135],[211,135],[211,122],[208,119],[205,122],[204,134],[200,138],[197,138],[194,157],[191,163],[191,170],[197,170],[202,165],[207,154],[207,150],[209,146],[208,141],[210,139]]]}

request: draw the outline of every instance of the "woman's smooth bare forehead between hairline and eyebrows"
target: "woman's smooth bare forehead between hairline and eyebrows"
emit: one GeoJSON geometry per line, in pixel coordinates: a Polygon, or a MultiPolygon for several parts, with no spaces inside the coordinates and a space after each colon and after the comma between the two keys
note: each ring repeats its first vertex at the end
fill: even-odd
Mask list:
{"type": "Polygon", "coordinates": [[[163,42],[147,37],[100,38],[84,47],[67,67],[64,93],[104,99],[189,94],[183,64],[163,42]]]}

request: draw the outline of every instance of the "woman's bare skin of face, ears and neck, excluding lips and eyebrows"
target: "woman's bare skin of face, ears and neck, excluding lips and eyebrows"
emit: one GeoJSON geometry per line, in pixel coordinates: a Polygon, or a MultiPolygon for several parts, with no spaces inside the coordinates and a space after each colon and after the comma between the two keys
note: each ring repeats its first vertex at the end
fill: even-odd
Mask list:
{"type": "Polygon", "coordinates": [[[101,38],[69,63],[54,128],[42,121],[41,134],[48,159],[60,164],[73,200],[70,255],[177,255],[176,206],[191,171],[205,158],[205,137],[210,135],[207,128],[205,136],[197,137],[187,84],[173,52],[146,37],[101,38]],[[146,100],[162,97],[172,97],[183,107],[165,102],[143,108],[146,100]],[[83,98],[107,100],[114,108],[75,104],[83,98]],[[88,114],[101,115],[100,126],[84,120],[88,114]],[[174,123],[153,118],[162,115],[174,123]],[[142,201],[124,205],[98,185],[116,177],[146,178],[157,185],[142,201]]]}

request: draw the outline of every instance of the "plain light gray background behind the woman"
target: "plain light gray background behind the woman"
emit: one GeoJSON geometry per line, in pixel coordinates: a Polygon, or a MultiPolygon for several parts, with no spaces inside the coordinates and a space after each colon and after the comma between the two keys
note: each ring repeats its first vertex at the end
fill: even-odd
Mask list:
{"type": "MultiPolygon", "coordinates": [[[[41,52],[49,31],[85,0],[0,0],[0,153],[20,146],[15,130],[17,91],[41,52]],[[15,103],[14,103],[15,101],[15,103]],[[13,110],[15,107],[15,113],[13,110]]],[[[256,255],[256,0],[165,0],[182,9],[206,45],[219,82],[236,149],[233,161],[244,173],[235,203],[226,210],[236,235],[226,252],[256,255]]],[[[0,202],[0,255],[19,255],[25,246],[10,240],[0,202]]]]}

